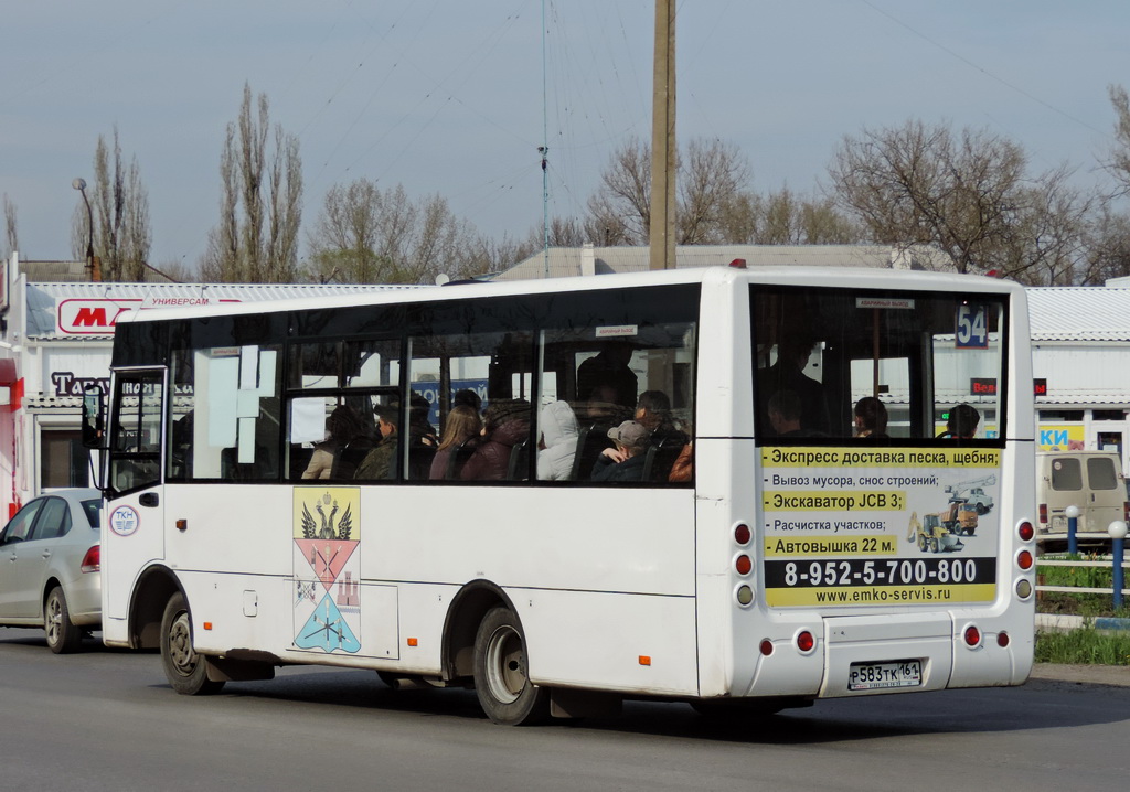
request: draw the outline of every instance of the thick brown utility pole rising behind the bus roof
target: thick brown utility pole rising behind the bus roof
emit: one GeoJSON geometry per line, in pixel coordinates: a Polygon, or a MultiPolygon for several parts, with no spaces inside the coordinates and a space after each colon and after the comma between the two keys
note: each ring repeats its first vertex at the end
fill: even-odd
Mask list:
{"type": "Polygon", "coordinates": [[[675,269],[675,0],[655,0],[649,269],[675,269]]]}

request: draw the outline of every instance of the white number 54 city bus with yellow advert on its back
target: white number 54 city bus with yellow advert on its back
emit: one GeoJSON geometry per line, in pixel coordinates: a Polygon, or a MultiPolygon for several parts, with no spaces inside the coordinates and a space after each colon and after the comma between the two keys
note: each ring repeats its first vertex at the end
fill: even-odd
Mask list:
{"type": "Polygon", "coordinates": [[[719,267],[142,311],[112,375],[103,635],[177,693],[364,668],[520,724],[1031,669],[1011,284],[719,267]]]}

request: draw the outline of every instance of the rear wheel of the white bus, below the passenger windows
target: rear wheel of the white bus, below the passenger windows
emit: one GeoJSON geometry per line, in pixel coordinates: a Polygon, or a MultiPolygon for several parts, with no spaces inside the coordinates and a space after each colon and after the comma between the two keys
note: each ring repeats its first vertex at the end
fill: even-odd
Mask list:
{"type": "Polygon", "coordinates": [[[487,611],[475,635],[475,693],[495,723],[527,725],[549,717],[549,690],[530,681],[522,625],[510,608],[487,611]]]}

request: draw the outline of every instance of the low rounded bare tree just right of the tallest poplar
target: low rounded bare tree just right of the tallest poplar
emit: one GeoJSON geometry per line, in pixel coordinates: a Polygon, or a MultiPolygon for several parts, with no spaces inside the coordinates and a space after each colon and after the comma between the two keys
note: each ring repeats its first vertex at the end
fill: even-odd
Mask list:
{"type": "Polygon", "coordinates": [[[359,179],[336,185],[310,236],[311,277],[322,282],[421,284],[440,273],[478,275],[481,241],[441,195],[409,198],[359,179]]]}

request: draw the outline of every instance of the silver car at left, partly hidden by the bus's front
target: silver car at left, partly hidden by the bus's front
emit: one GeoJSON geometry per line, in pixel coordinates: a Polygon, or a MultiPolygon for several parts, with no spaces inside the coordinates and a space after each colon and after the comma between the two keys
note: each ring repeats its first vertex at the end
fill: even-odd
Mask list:
{"type": "Polygon", "coordinates": [[[102,626],[102,493],[61,489],[28,501],[0,531],[0,627],[43,627],[56,654],[102,626]]]}

